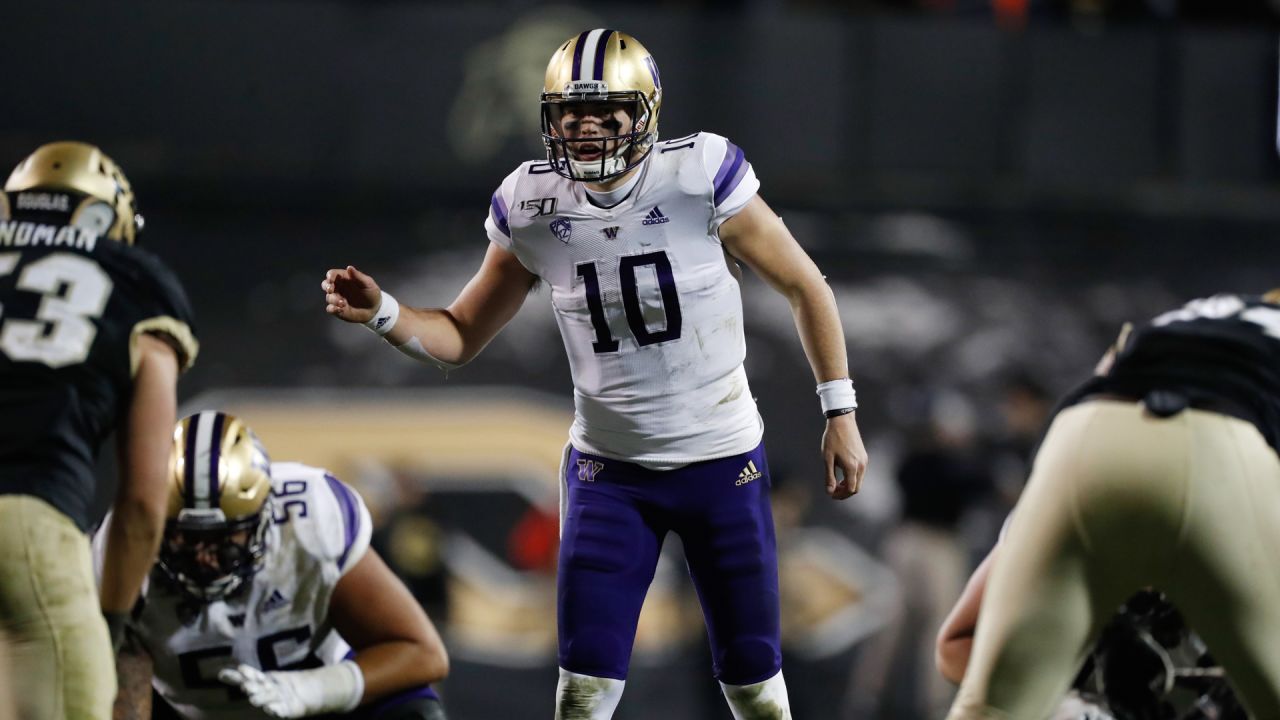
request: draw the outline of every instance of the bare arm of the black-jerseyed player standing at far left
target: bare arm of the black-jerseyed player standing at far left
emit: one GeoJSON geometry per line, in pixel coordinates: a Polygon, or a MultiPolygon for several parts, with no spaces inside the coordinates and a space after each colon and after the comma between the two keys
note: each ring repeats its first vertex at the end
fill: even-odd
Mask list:
{"type": "Polygon", "coordinates": [[[159,338],[138,338],[140,364],[128,419],[120,429],[120,487],[102,559],[102,610],[127,612],[155,565],[164,533],[169,446],[177,415],[178,359],[159,338]]]}

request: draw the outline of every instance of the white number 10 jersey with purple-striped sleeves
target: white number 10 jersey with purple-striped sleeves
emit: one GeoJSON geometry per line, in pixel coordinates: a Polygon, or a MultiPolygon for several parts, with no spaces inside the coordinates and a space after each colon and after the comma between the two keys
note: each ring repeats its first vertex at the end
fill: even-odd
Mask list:
{"type": "Polygon", "coordinates": [[[718,232],[759,187],[742,151],[707,132],[655,143],[608,209],[545,161],[503,181],[485,229],[552,288],[575,447],[669,468],[760,442],[736,264],[718,232]]]}

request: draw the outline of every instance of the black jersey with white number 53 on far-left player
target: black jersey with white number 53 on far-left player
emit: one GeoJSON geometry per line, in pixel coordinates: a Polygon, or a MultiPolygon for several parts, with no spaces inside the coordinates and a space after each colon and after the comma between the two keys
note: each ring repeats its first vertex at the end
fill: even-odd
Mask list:
{"type": "Polygon", "coordinates": [[[88,529],[95,462],[123,420],[136,338],[196,357],[192,313],[155,255],[56,220],[0,220],[0,495],[31,495],[88,529]]]}

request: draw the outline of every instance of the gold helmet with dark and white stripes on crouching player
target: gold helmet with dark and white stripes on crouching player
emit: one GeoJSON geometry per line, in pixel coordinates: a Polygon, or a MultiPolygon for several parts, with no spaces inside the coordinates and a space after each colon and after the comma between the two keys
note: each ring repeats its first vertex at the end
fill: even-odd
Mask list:
{"type": "Polygon", "coordinates": [[[209,602],[262,568],[271,525],[271,464],[253,430],[225,413],[178,421],[169,456],[161,571],[209,602]]]}

